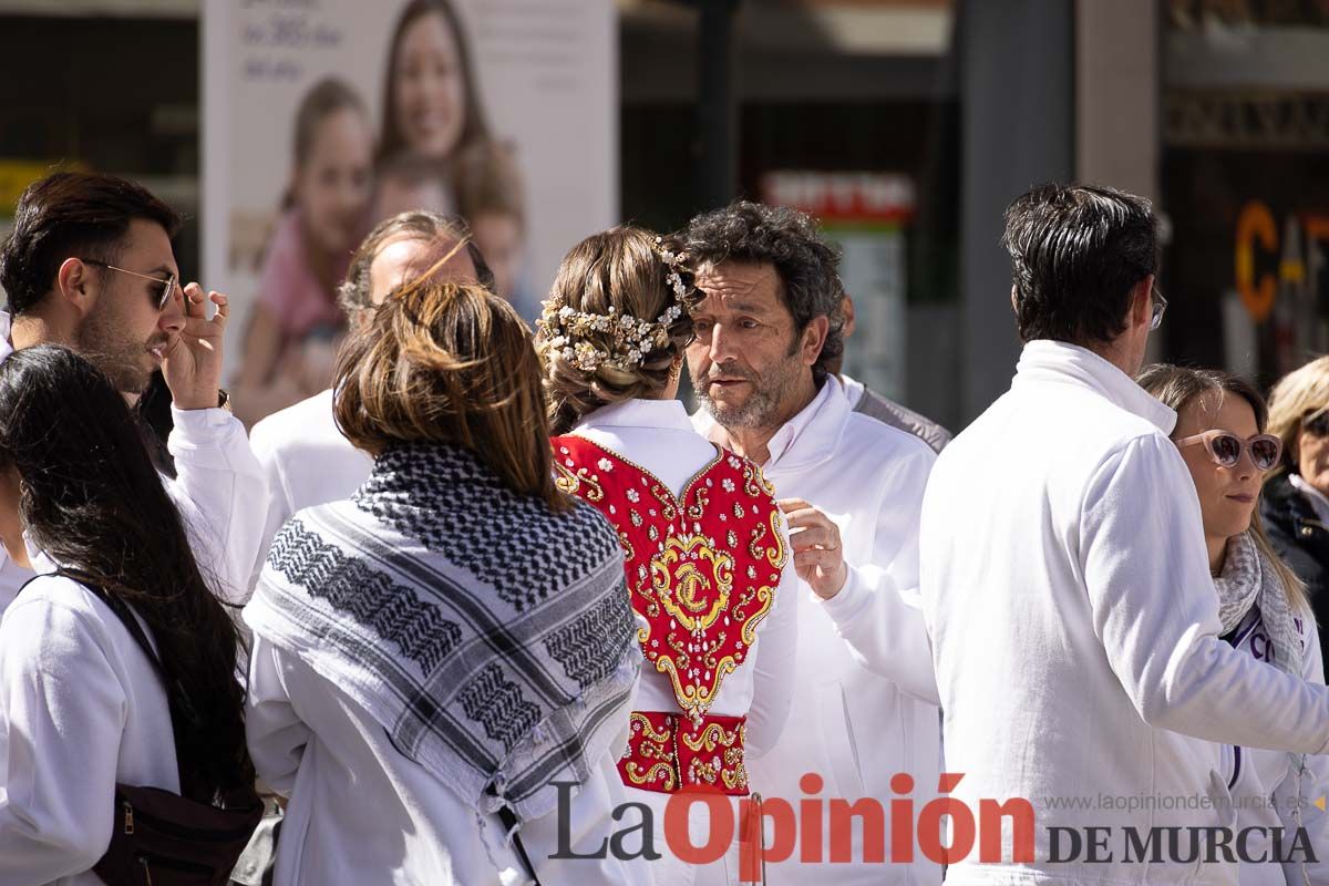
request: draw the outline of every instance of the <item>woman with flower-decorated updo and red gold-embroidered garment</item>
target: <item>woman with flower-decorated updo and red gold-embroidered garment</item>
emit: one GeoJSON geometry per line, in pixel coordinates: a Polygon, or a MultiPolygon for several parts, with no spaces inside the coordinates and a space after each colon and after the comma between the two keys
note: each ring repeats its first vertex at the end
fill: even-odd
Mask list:
{"type": "MultiPolygon", "coordinates": [[[[719,789],[736,804],[760,789],[747,762],[784,727],[797,639],[775,490],[756,465],[696,433],[676,399],[694,299],[671,240],[615,227],[563,259],[536,335],[558,485],[613,523],[642,624],[645,668],[618,772],[651,808],[657,846],[678,790],[719,789]]],[[[653,867],[659,883],[736,882],[738,842],[714,865],[664,853],[653,867]]]]}

